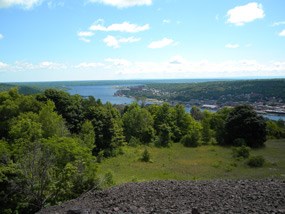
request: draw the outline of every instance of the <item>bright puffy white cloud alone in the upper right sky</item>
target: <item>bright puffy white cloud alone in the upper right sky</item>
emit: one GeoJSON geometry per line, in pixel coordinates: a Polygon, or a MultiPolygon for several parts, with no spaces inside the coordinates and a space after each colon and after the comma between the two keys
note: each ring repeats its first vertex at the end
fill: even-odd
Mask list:
{"type": "Polygon", "coordinates": [[[243,6],[237,6],[227,12],[228,23],[242,26],[247,22],[264,18],[262,4],[251,2],[243,6]]]}

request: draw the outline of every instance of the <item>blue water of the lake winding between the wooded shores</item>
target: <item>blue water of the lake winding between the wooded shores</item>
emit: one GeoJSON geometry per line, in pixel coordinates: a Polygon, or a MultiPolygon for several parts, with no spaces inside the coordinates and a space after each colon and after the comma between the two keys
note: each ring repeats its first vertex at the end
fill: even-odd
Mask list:
{"type": "MultiPolygon", "coordinates": [[[[84,97],[93,96],[95,99],[100,99],[102,103],[110,102],[112,104],[130,104],[134,101],[134,99],[127,98],[127,97],[116,97],[114,96],[114,93],[117,91],[117,88],[119,86],[134,86],[139,85],[142,82],[138,82],[138,84],[129,84],[129,85],[123,85],[123,84],[116,84],[116,85],[92,85],[92,86],[69,86],[68,92],[72,95],[79,94],[84,97]]],[[[190,108],[186,108],[187,112],[190,112],[190,108]]],[[[266,114],[262,115],[265,118],[268,118],[270,120],[284,120],[285,121],[285,115],[274,115],[274,114],[266,114]]]]}

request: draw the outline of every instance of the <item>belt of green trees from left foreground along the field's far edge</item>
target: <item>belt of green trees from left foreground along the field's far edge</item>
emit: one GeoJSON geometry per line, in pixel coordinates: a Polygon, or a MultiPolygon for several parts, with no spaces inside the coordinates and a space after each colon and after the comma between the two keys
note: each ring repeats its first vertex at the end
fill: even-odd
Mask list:
{"type": "Polygon", "coordinates": [[[33,213],[100,188],[98,164],[124,145],[259,148],[285,137],[284,121],[265,121],[250,106],[187,113],[180,104],[113,106],[56,89],[0,92],[0,117],[0,213],[33,213]]]}

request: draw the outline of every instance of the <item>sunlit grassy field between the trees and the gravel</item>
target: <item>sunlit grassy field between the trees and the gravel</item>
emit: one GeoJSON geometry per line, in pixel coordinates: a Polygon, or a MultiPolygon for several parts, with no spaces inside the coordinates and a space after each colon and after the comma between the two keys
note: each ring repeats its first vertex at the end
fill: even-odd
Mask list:
{"type": "Polygon", "coordinates": [[[269,140],[265,148],[251,150],[251,155],[262,155],[266,159],[262,168],[250,168],[246,160],[234,159],[232,148],[185,148],[181,144],[170,148],[147,147],[151,162],[144,163],[139,160],[144,148],[126,146],[123,155],[103,160],[98,168],[100,177],[111,172],[115,184],[172,179],[285,179],[285,139],[269,140]]]}

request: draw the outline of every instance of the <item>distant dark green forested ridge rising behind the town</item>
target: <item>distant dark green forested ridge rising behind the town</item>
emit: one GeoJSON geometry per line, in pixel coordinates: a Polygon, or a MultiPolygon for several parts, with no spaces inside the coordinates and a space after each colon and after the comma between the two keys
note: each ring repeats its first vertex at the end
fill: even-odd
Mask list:
{"type": "Polygon", "coordinates": [[[202,83],[153,83],[144,90],[121,90],[126,96],[147,97],[166,101],[187,102],[196,100],[269,101],[272,98],[285,102],[285,79],[235,80],[202,83]]]}

